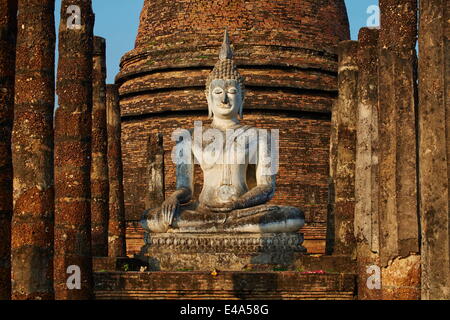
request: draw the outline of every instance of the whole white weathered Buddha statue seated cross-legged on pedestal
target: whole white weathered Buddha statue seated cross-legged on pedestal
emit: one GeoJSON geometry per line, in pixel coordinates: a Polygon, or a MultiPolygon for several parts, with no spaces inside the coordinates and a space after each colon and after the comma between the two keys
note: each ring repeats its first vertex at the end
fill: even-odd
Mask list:
{"type": "Polygon", "coordinates": [[[206,99],[212,118],[208,129],[214,130],[216,136],[218,133],[225,137],[223,141],[232,132],[232,141],[228,144],[231,147],[223,149],[220,160],[205,161],[205,158],[214,158],[208,141],[202,139],[200,143],[192,144],[187,152],[189,161],[176,161],[175,192],[161,207],[144,212],[141,225],[147,232],[288,233],[296,232],[304,225],[304,214],[298,208],[266,204],[275,193],[276,179],[275,170],[271,170],[273,163],[266,161],[267,154],[272,154],[270,134],[257,139],[258,152],[253,157],[252,167],[256,167],[256,185],[248,187],[252,139],[240,138],[249,136],[255,128],[240,123],[244,94],[244,79],[233,61],[225,31],[219,61],[207,79],[206,99]],[[236,146],[240,151],[233,151],[236,146]],[[239,154],[240,161],[225,161],[232,158],[230,153],[239,154]],[[204,177],[197,201],[193,199],[195,161],[200,164],[204,177]]]}

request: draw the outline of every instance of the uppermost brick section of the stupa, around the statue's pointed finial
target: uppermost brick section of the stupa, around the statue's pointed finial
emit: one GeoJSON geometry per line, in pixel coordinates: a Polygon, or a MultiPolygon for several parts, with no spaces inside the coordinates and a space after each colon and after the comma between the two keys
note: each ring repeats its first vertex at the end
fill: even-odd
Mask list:
{"type": "Polygon", "coordinates": [[[146,1],[136,48],[123,57],[119,78],[144,70],[212,66],[225,27],[239,66],[334,72],[334,46],[349,38],[341,0],[146,1]]]}

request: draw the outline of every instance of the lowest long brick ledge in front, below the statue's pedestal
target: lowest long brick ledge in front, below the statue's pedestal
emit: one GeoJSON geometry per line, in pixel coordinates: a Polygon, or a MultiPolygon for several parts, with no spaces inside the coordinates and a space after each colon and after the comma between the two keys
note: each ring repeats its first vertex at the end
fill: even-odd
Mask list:
{"type": "MultiPolygon", "coordinates": [[[[96,272],[97,300],[353,300],[352,274],[96,272]]],[[[170,314],[169,314],[170,315],[170,314]]]]}

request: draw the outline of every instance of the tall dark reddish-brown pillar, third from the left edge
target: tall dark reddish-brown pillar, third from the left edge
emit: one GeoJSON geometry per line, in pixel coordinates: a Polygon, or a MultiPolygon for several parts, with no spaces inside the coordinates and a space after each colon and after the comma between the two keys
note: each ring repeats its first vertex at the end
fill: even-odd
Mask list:
{"type": "Polygon", "coordinates": [[[94,15],[90,0],[63,0],[55,115],[55,297],[92,297],[91,117],[94,15]],[[67,13],[79,8],[80,21],[67,13]],[[68,21],[69,19],[69,21],[68,21]],[[68,269],[70,266],[71,267],[68,269]],[[81,273],[81,288],[68,277],[81,273]],[[69,273],[68,273],[69,272],[69,273]],[[71,272],[71,273],[70,273],[71,272]]]}

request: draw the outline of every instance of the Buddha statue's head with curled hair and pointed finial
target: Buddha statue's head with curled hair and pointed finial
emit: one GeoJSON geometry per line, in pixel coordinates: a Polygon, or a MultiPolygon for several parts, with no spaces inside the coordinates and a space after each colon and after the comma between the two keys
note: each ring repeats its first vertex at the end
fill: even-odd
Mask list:
{"type": "Polygon", "coordinates": [[[225,30],[219,61],[206,81],[209,117],[233,119],[239,116],[242,119],[244,95],[244,78],[234,64],[233,50],[225,30]]]}

